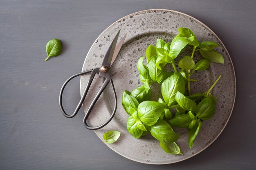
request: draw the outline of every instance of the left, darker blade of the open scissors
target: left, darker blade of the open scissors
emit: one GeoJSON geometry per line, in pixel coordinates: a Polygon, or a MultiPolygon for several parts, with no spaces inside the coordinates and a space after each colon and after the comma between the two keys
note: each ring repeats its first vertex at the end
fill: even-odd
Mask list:
{"type": "Polygon", "coordinates": [[[103,62],[101,64],[101,66],[106,66],[108,68],[110,68],[110,63],[112,61],[113,58],[113,54],[117,45],[117,39],[119,36],[120,30],[118,31],[117,35],[115,36],[114,40],[112,41],[112,43],[110,44],[110,47],[108,48],[108,51],[103,59],[103,62]]]}

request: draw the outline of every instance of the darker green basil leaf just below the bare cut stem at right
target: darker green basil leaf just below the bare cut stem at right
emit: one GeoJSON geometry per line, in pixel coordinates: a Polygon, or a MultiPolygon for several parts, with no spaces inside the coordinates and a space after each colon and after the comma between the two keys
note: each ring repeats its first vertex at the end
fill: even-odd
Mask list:
{"type": "Polygon", "coordinates": [[[202,120],[210,119],[216,112],[217,98],[206,97],[198,104],[196,115],[202,120]]]}

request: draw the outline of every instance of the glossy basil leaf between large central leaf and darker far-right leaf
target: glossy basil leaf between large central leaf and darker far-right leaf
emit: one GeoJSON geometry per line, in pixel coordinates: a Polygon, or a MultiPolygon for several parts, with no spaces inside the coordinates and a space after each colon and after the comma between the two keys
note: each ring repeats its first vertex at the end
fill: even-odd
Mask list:
{"type": "Polygon", "coordinates": [[[189,111],[196,111],[196,104],[193,100],[187,98],[179,91],[175,95],[176,102],[182,107],[183,109],[189,111]]]}

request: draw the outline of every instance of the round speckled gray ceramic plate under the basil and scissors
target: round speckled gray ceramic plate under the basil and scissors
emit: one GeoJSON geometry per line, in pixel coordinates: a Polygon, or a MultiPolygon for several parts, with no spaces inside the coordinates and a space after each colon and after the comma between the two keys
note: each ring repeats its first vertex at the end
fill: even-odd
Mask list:
{"type": "MultiPolygon", "coordinates": [[[[101,65],[103,56],[119,29],[121,29],[120,38],[125,33],[127,33],[127,37],[117,56],[117,60],[110,70],[117,92],[117,112],[107,126],[100,130],[95,130],[95,133],[103,141],[104,132],[119,130],[121,136],[118,141],[114,144],[106,145],[118,154],[141,163],[175,163],[193,157],[207,148],[225,128],[231,115],[236,95],[236,78],[233,64],[227,49],[220,39],[202,22],[184,13],[163,9],[140,11],[121,18],[101,33],[85,58],[83,71],[101,65]],[[218,75],[222,75],[212,91],[213,95],[218,98],[216,114],[210,120],[203,121],[202,130],[200,130],[191,149],[188,146],[188,130],[174,128],[175,132],[181,135],[176,143],[180,146],[183,155],[169,155],[160,148],[159,142],[151,135],[135,139],[127,132],[126,120],[128,115],[122,108],[121,97],[124,90],[132,91],[141,85],[137,71],[137,61],[141,56],[145,55],[147,46],[149,44],[155,45],[157,38],[171,42],[180,27],[191,29],[200,41],[218,42],[220,48],[217,51],[223,55],[225,64],[211,63],[207,71],[193,74],[193,77],[198,79],[199,82],[191,83],[192,93],[207,91],[218,75]]],[[[187,52],[189,50],[190,53],[188,54],[191,55],[191,49],[188,48],[187,52]]],[[[200,58],[202,58],[200,54],[195,53],[195,61],[200,58]]],[[[180,60],[180,58],[177,60],[180,60]]],[[[171,67],[169,66],[169,68],[171,67]]],[[[94,80],[85,100],[87,102],[83,104],[85,111],[103,82],[102,78],[94,80]]],[[[81,94],[87,82],[88,75],[83,75],[81,77],[81,94]]],[[[161,93],[159,93],[160,86],[154,84],[152,90],[154,96],[152,100],[157,100],[161,96],[161,93]]],[[[113,105],[112,89],[108,85],[92,110],[93,114],[88,119],[89,123],[94,126],[102,124],[112,113],[113,105]]]]}

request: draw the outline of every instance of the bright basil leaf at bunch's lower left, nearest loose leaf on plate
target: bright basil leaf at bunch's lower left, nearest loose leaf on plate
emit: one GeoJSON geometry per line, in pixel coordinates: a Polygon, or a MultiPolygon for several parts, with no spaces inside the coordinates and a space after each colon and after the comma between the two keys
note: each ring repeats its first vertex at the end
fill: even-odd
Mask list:
{"type": "Polygon", "coordinates": [[[138,125],[139,120],[135,119],[134,117],[130,116],[127,119],[127,130],[135,138],[141,137],[143,130],[139,128],[138,125]]]}

